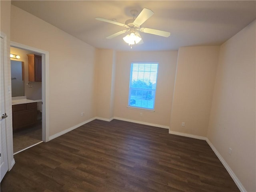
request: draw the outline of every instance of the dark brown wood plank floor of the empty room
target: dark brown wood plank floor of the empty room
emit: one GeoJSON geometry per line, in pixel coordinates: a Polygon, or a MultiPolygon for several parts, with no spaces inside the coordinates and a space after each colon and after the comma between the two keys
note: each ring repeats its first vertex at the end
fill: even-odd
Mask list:
{"type": "Polygon", "coordinates": [[[235,192],[204,140],[94,120],[14,156],[1,192],[235,192]]]}

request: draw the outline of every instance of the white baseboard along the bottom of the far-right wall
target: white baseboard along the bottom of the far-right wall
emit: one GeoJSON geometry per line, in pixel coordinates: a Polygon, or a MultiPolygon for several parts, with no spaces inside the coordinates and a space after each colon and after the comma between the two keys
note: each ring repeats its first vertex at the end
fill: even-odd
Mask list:
{"type": "Polygon", "coordinates": [[[210,140],[208,140],[208,138],[206,138],[206,142],[210,145],[210,147],[212,148],[212,150],[214,151],[216,156],[219,158],[220,162],[222,162],[222,164],[224,165],[224,167],[226,168],[226,170],[228,171],[228,173],[230,174],[230,176],[232,177],[232,179],[234,180],[234,182],[238,186],[239,190],[241,192],[246,192],[246,189],[244,188],[244,186],[242,185],[240,180],[236,177],[236,175],[234,174],[232,169],[228,166],[227,162],[222,158],[220,153],[216,150],[216,148],[213,146],[213,144],[210,142],[210,140]]]}

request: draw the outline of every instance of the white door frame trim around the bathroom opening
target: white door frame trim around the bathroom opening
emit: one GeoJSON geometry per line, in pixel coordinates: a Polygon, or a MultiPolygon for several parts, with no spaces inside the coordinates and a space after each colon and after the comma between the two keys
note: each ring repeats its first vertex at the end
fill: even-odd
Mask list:
{"type": "Polygon", "coordinates": [[[49,52],[16,42],[10,46],[42,54],[42,140],[49,141],[49,52]]]}

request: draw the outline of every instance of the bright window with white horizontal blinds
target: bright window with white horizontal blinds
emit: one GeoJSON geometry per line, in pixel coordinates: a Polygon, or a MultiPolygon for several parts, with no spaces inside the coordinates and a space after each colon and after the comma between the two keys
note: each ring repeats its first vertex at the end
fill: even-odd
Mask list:
{"type": "Polygon", "coordinates": [[[132,63],[128,106],[153,110],[158,63],[132,63]]]}

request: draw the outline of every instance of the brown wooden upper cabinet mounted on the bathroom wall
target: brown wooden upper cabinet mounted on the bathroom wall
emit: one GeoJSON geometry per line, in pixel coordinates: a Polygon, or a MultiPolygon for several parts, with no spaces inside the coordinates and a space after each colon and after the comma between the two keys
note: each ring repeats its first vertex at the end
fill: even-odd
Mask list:
{"type": "Polygon", "coordinates": [[[28,81],[42,81],[42,56],[27,54],[28,81]]]}

